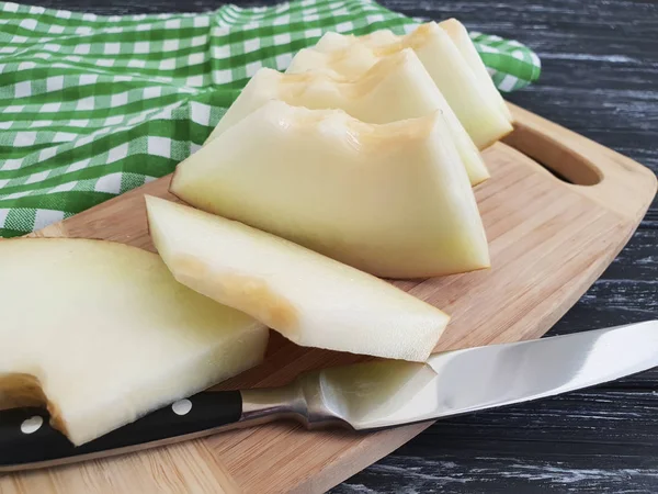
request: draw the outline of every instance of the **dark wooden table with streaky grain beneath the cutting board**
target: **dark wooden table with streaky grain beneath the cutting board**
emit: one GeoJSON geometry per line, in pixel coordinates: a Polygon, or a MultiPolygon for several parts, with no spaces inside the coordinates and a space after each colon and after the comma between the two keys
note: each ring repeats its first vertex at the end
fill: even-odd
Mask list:
{"type": "MultiPolygon", "coordinates": [[[[33,0],[97,13],[205,11],[213,0],[33,0]]],[[[274,0],[238,1],[240,4],[274,0]]],[[[509,100],[658,171],[658,4],[650,0],[383,0],[517,38],[541,81],[509,100]]],[[[549,335],[658,318],[658,203],[549,335]]],[[[658,369],[591,391],[443,420],[332,490],[657,493],[658,369]]]]}

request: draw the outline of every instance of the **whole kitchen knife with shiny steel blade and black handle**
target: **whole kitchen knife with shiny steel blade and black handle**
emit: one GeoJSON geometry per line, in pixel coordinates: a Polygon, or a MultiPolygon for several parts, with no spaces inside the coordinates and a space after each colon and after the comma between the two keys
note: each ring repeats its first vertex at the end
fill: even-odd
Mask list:
{"type": "Polygon", "coordinates": [[[553,396],[658,366],[658,321],[305,372],[286,386],[203,392],[80,447],[41,408],[0,411],[0,471],[55,465],[292,418],[376,430],[553,396]]]}

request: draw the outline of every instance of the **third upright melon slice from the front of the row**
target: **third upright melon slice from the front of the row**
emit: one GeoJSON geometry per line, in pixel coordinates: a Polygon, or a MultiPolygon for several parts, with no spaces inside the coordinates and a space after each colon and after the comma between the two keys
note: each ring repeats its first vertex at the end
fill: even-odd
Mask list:
{"type": "Polygon", "coordinates": [[[492,99],[491,78],[474,72],[451,36],[435,22],[420,25],[406,36],[353,36],[327,33],[314,48],[300,50],[287,69],[290,74],[326,70],[358,77],[377,60],[412,48],[445,97],[460,122],[479,149],[512,131],[500,96],[492,99]]]}

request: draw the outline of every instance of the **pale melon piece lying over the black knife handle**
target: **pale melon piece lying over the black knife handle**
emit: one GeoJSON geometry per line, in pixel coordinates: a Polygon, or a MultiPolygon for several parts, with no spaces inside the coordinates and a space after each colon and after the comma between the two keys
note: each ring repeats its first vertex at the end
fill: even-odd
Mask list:
{"type": "Polygon", "coordinates": [[[135,247],[5,240],[0,272],[0,408],[46,405],[75,445],[256,366],[268,344],[135,247]]]}

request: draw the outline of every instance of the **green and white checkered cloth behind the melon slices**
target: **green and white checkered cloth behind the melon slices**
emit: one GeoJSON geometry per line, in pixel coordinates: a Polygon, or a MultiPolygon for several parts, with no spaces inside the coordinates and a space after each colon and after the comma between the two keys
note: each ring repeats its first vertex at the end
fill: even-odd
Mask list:
{"type": "MultiPolygon", "coordinates": [[[[371,0],[123,16],[0,2],[0,237],[170,173],[249,77],[284,70],[324,32],[401,34],[421,22],[371,0]]],[[[501,91],[538,77],[520,43],[472,37],[501,91]]]]}

